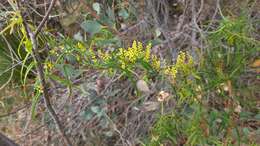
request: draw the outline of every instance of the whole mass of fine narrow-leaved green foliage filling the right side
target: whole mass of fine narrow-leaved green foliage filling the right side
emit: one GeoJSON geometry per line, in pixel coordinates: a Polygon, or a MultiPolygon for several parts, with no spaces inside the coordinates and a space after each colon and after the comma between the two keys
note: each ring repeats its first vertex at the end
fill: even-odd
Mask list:
{"type": "MultiPolygon", "coordinates": [[[[179,104],[171,114],[158,118],[147,145],[252,144],[248,128],[234,121],[244,121],[241,105],[244,110],[255,110],[255,106],[244,105],[253,104],[256,99],[241,96],[249,88],[241,86],[240,81],[259,51],[259,41],[250,36],[252,31],[246,17],[220,21],[217,30],[208,35],[209,47],[197,71],[190,72],[195,78],[186,81],[176,78],[173,88],[179,95],[177,100],[182,100],[185,106],[179,104]],[[189,102],[187,97],[195,97],[198,102],[189,102]],[[247,101],[242,103],[245,98],[247,101]],[[234,116],[237,113],[240,117],[234,116]]],[[[249,117],[253,116],[257,117],[252,113],[249,117]]]]}

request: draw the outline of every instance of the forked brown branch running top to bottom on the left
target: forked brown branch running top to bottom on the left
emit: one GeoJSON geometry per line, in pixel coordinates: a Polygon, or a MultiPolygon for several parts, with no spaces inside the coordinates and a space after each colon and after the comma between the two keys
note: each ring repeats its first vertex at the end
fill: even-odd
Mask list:
{"type": "Polygon", "coordinates": [[[36,70],[37,70],[37,73],[38,73],[38,76],[40,78],[40,83],[41,83],[41,86],[43,88],[43,98],[44,98],[44,103],[45,103],[45,106],[50,114],[50,116],[52,117],[52,119],[54,120],[54,123],[56,124],[57,126],[57,129],[59,130],[64,142],[66,143],[66,145],[68,146],[72,146],[69,138],[66,136],[66,133],[65,133],[65,130],[63,129],[63,126],[62,124],[60,123],[59,121],[59,118],[57,116],[57,114],[55,113],[52,105],[51,105],[51,102],[50,102],[50,94],[48,92],[48,85],[47,85],[47,82],[46,82],[46,79],[45,79],[45,75],[44,75],[44,68],[43,68],[43,65],[41,63],[41,58],[40,58],[40,55],[39,55],[39,52],[38,52],[38,47],[37,47],[37,40],[36,40],[36,37],[37,35],[39,34],[39,32],[41,31],[43,25],[45,24],[45,22],[47,21],[48,19],[48,16],[51,12],[51,9],[52,7],[54,6],[56,0],[52,0],[51,1],[51,4],[48,8],[48,11],[46,12],[43,20],[40,22],[40,25],[37,27],[36,31],[33,33],[31,31],[31,29],[29,28],[28,24],[25,22],[25,19],[24,19],[24,16],[22,15],[23,17],[23,25],[25,27],[25,30],[26,30],[26,35],[28,38],[30,38],[31,40],[31,43],[32,43],[32,57],[36,63],[36,70]]]}

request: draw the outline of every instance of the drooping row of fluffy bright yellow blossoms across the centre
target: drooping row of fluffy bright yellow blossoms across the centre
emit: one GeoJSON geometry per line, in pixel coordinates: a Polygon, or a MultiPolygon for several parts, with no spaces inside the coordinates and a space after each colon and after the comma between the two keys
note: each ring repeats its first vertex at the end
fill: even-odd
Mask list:
{"type": "MultiPolygon", "coordinates": [[[[81,44],[78,44],[78,47],[81,49],[85,48],[81,44]]],[[[126,69],[127,65],[135,65],[138,60],[143,60],[149,63],[153,69],[158,72],[162,71],[162,73],[170,76],[173,80],[176,78],[177,73],[179,72],[183,73],[184,75],[188,75],[191,73],[193,67],[193,59],[189,54],[181,51],[177,57],[176,64],[166,64],[165,67],[162,68],[160,58],[158,58],[156,55],[151,54],[151,48],[151,44],[143,47],[143,44],[141,42],[133,41],[131,47],[127,49],[119,48],[118,52],[116,52],[115,54],[102,52],[100,50],[98,51],[98,57],[102,62],[108,62],[113,58],[113,55],[115,55],[114,57],[115,59],[117,59],[122,69],[126,69]]],[[[92,57],[92,61],[96,63],[97,58],[91,47],[89,49],[89,52],[92,57]]]]}

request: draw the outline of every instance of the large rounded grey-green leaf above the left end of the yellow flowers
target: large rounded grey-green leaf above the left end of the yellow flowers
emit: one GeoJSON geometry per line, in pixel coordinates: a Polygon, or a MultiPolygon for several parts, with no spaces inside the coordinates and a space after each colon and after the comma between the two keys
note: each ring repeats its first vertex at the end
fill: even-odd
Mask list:
{"type": "Polygon", "coordinates": [[[99,33],[101,30],[101,24],[98,23],[95,20],[86,20],[84,22],[81,23],[80,27],[90,33],[90,35],[94,35],[96,33],[99,33]]]}

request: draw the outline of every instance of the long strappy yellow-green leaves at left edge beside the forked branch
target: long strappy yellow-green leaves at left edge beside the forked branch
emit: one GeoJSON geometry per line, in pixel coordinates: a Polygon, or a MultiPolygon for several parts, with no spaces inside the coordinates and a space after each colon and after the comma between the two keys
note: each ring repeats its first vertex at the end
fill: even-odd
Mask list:
{"type": "MultiPolygon", "coordinates": [[[[3,12],[1,10],[1,13],[9,19],[5,21],[4,28],[0,32],[0,89],[2,90],[3,87],[8,89],[9,85],[20,87],[18,88],[19,91],[13,92],[20,93],[23,91],[24,93],[19,95],[19,97],[23,97],[23,100],[32,97],[32,115],[34,115],[41,92],[39,92],[38,86],[31,88],[27,82],[29,78],[35,79],[35,82],[37,82],[36,74],[34,74],[35,62],[31,56],[32,43],[26,35],[23,26],[24,20],[20,10],[18,10],[16,1],[8,1],[8,3],[11,5],[10,10],[3,12]]],[[[29,26],[34,29],[33,25],[29,24],[29,26]]],[[[49,41],[49,37],[42,34],[37,39],[39,50],[43,48],[43,45],[45,47],[46,41],[49,41]]],[[[40,53],[42,52],[40,51],[40,53]]],[[[20,99],[16,101],[20,101],[20,99]]],[[[10,106],[13,106],[13,104],[10,106]]]]}

